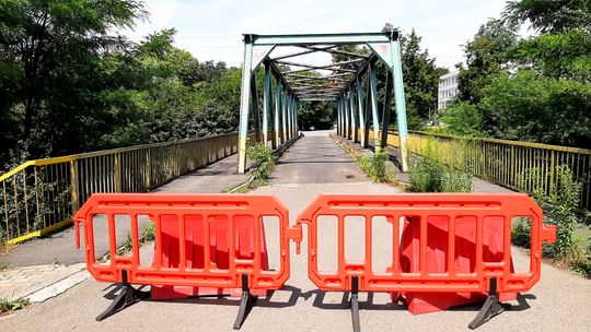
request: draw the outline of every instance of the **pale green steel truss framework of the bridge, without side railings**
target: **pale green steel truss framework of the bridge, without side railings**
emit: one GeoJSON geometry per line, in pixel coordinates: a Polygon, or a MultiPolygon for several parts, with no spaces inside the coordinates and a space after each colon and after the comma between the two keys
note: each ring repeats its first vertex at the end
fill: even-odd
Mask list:
{"type": "Polygon", "coordinates": [[[246,138],[248,115],[252,108],[257,141],[268,142],[269,118],[273,118],[273,147],[277,147],[298,134],[298,106],[306,100],[334,100],[337,106],[337,133],[368,146],[370,119],[375,146],[387,144],[390,104],[394,93],[403,171],[408,170],[406,104],[402,71],[399,34],[393,29],[382,33],[306,34],[306,35],[255,35],[244,34],[244,62],[240,98],[239,173],[246,170],[246,138]],[[344,45],[364,45],[371,55],[338,49],[344,45]],[[302,50],[270,57],[279,46],[299,47],[302,50]],[[308,64],[293,58],[312,52],[339,54],[350,60],[326,66],[308,64]],[[287,60],[290,59],[290,60],[287,60]],[[376,61],[389,69],[384,86],[382,123],[379,122],[376,61]],[[361,63],[357,70],[350,64],[361,63]],[[263,91],[263,126],[259,121],[256,70],[265,67],[263,91]],[[296,67],[297,69],[291,69],[296,67]],[[282,70],[280,69],[282,68],[282,70]],[[286,70],[289,68],[289,70],[286,70]],[[299,68],[299,69],[298,69],[299,68]],[[332,71],[328,75],[311,75],[318,70],[332,71]],[[308,74],[308,75],[306,75],[308,74]],[[367,76],[363,83],[363,76],[367,76]],[[275,107],[273,84],[275,79],[275,107]],[[251,107],[252,106],[252,107],[251,107]],[[371,111],[371,115],[370,115],[371,111]]]}

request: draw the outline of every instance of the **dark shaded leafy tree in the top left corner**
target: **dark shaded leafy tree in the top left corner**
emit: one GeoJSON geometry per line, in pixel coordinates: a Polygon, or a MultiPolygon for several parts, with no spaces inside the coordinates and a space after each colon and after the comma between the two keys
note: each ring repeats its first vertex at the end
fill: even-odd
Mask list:
{"type": "Polygon", "coordinates": [[[0,117],[13,128],[2,128],[7,147],[59,154],[101,131],[111,120],[101,56],[125,49],[128,42],[111,32],[142,17],[134,0],[0,2],[0,117]]]}

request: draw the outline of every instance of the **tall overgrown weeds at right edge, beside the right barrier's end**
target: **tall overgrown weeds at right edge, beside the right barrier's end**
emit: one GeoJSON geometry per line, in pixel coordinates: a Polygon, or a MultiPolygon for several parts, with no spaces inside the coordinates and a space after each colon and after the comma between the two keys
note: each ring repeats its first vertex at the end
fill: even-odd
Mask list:
{"type": "MultiPolygon", "coordinates": [[[[518,187],[524,191],[528,181],[542,182],[548,175],[540,168],[530,168],[518,177],[518,187]]],[[[544,223],[556,225],[556,244],[544,244],[544,257],[570,266],[591,277],[591,244],[587,225],[580,223],[577,208],[582,183],[575,180],[568,166],[556,168],[557,187],[549,193],[535,189],[533,199],[544,210],[544,223]]],[[[512,229],[513,245],[529,248],[531,225],[517,224],[512,229]]]]}

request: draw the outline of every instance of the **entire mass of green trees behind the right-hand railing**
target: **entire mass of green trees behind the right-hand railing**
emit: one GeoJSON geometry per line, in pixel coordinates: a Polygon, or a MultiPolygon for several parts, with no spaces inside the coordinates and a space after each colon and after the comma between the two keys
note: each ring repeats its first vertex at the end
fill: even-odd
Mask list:
{"type": "Polygon", "coordinates": [[[590,22],[589,1],[510,1],[464,46],[459,99],[470,106],[447,111],[450,132],[589,146],[590,22]],[[524,23],[541,34],[519,39],[524,23]]]}

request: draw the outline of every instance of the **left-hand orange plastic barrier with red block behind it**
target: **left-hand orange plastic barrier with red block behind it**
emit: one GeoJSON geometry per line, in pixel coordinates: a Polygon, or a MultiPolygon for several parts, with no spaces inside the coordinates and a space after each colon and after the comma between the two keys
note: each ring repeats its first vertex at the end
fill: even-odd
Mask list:
{"type": "MultiPolygon", "coordinates": [[[[242,293],[234,329],[240,329],[257,294],[280,289],[290,274],[289,240],[301,240],[301,229],[289,227],[287,209],[271,195],[241,194],[93,194],[74,216],[84,226],[84,250],[91,275],[123,289],[96,320],[102,320],[149,293],[131,284],[152,285],[152,297],[242,293]],[[278,220],[279,262],[269,269],[264,218],[278,220]],[[95,224],[106,221],[106,234],[95,224]],[[139,224],[154,224],[152,262],[140,259],[139,224]],[[127,224],[131,250],[117,252],[117,226],[127,224]],[[108,237],[111,260],[96,257],[95,239],[108,237]],[[181,287],[181,288],[176,288],[181,287]]],[[[120,236],[120,235],[119,235],[120,236]]]]}

